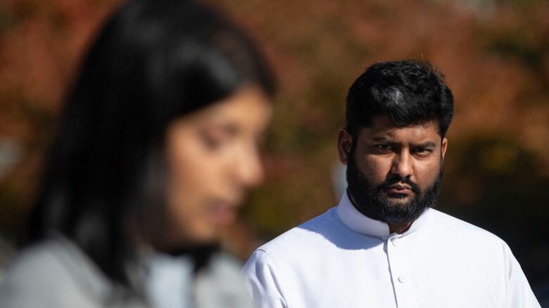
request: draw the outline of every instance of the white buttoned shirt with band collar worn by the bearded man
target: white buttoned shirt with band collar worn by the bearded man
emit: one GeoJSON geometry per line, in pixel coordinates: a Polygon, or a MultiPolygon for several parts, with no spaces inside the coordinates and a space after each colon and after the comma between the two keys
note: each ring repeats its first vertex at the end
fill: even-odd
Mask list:
{"type": "Polygon", "coordinates": [[[429,209],[403,234],[339,206],[261,246],[244,277],[255,307],[540,307],[505,242],[429,209]]]}

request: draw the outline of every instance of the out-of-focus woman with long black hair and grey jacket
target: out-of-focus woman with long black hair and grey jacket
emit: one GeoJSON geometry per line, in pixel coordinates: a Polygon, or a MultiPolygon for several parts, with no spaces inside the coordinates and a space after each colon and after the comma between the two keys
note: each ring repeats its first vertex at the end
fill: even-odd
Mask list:
{"type": "Polygon", "coordinates": [[[253,43],[220,13],[123,5],[65,102],[0,306],[246,307],[217,236],[262,178],[273,89],[253,43]]]}

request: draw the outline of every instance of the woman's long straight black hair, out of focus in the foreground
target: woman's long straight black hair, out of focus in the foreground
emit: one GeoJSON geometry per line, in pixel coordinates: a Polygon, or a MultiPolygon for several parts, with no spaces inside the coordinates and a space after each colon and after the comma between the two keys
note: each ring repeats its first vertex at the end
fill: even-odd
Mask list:
{"type": "Polygon", "coordinates": [[[274,92],[260,53],[220,13],[194,1],[128,1],[99,34],[65,101],[29,243],[61,233],[128,285],[128,218],[147,232],[163,220],[168,123],[247,84],[274,92]]]}

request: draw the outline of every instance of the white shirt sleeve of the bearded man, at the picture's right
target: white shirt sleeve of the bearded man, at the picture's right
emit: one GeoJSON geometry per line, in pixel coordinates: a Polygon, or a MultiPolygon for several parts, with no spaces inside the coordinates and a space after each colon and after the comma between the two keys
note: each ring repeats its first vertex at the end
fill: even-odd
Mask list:
{"type": "Polygon", "coordinates": [[[507,259],[507,307],[509,308],[541,308],[538,300],[517,259],[512,254],[509,246],[504,244],[505,258],[507,259]]]}

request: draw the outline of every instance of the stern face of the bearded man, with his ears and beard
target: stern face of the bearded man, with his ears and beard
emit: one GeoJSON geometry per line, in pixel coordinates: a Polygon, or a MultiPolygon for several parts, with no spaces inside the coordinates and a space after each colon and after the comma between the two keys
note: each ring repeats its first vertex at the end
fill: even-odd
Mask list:
{"type": "Polygon", "coordinates": [[[447,143],[435,121],[399,127],[387,116],[374,116],[354,143],[341,130],[339,155],[353,203],[375,220],[412,222],[436,202],[447,143]]]}

